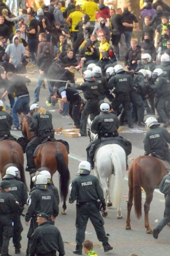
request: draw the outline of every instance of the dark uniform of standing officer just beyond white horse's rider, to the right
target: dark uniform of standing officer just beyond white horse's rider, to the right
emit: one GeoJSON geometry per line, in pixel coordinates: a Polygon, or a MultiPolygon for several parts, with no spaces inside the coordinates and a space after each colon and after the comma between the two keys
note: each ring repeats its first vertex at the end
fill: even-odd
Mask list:
{"type": "Polygon", "coordinates": [[[118,114],[118,107],[123,105],[125,117],[128,121],[130,128],[133,127],[133,119],[131,115],[131,102],[130,102],[130,92],[131,88],[134,87],[133,79],[130,75],[125,74],[125,71],[122,71],[115,76],[112,76],[107,84],[108,89],[114,89],[115,99],[112,101],[112,107],[118,114]]]}

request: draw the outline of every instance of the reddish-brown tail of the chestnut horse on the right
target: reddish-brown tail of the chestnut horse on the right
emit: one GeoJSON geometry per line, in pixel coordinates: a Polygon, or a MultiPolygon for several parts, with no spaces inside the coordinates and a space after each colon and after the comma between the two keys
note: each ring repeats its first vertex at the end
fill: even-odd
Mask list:
{"type": "Polygon", "coordinates": [[[133,198],[134,211],[138,219],[142,216],[142,193],[141,193],[141,166],[134,162],[133,166],[133,198]]]}

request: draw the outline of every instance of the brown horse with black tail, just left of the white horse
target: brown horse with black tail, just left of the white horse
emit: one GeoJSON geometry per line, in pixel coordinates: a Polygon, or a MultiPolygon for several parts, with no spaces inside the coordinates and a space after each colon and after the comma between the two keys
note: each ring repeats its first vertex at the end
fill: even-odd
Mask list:
{"type": "MultiPolygon", "coordinates": [[[[30,115],[22,116],[22,133],[27,137],[28,142],[35,137],[34,132],[29,131],[27,119],[30,115]]],[[[63,201],[62,213],[66,214],[66,198],[69,192],[70,172],[68,168],[69,157],[66,147],[63,143],[58,141],[48,141],[40,145],[36,156],[33,158],[36,170],[40,167],[46,167],[51,174],[51,181],[53,183],[53,174],[58,171],[60,174],[60,196],[63,201]]],[[[31,180],[31,187],[33,186],[31,180]]]]}

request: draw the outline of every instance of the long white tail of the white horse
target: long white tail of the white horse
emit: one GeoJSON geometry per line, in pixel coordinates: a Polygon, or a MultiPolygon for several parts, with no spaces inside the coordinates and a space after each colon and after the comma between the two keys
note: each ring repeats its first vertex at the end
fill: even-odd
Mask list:
{"type": "Polygon", "coordinates": [[[111,158],[112,158],[112,164],[114,166],[114,174],[115,174],[114,189],[113,189],[113,206],[117,207],[121,202],[126,163],[124,163],[124,166],[122,166],[120,156],[118,156],[117,153],[113,153],[111,155],[111,158]]]}

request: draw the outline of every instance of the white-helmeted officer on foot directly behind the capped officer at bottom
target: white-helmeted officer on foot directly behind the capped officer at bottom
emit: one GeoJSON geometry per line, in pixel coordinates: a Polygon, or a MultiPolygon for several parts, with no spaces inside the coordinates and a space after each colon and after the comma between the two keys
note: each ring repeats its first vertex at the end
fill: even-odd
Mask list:
{"type": "Polygon", "coordinates": [[[28,237],[27,255],[29,254],[30,237],[37,225],[37,214],[44,212],[49,216],[49,220],[54,223],[56,216],[58,215],[58,203],[52,190],[48,189],[47,177],[44,174],[37,174],[35,181],[37,189],[31,192],[29,198],[29,207],[27,214],[25,215],[25,225],[28,226],[28,222],[31,219],[28,237]]]}

